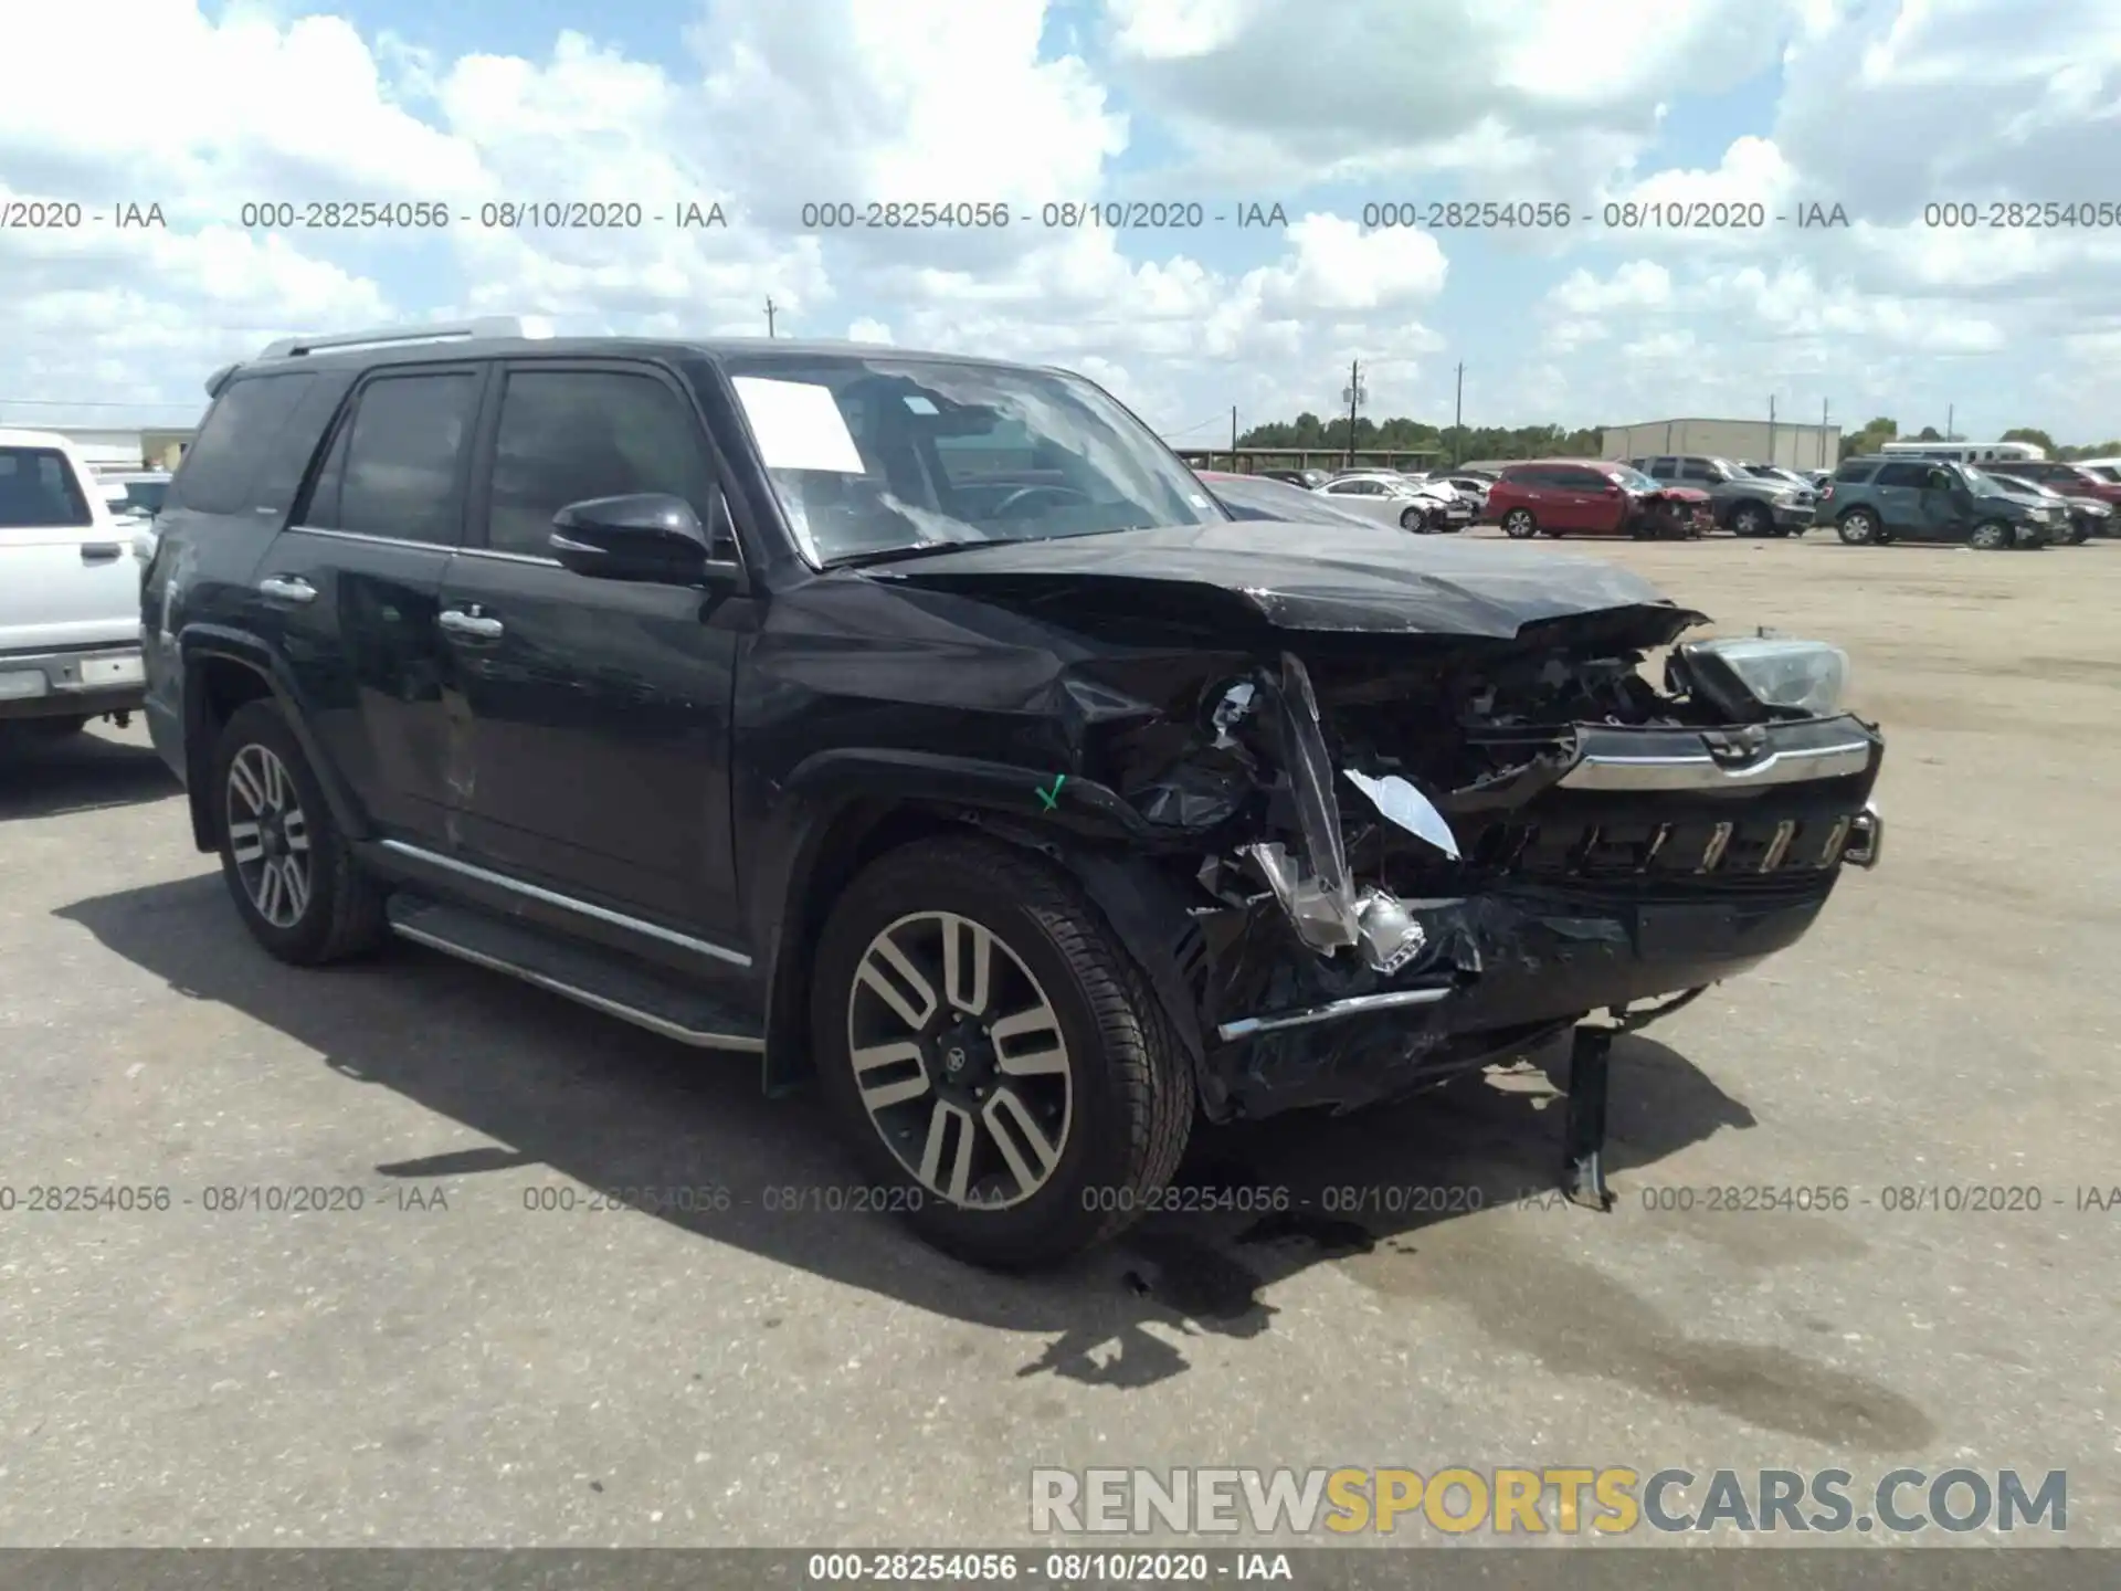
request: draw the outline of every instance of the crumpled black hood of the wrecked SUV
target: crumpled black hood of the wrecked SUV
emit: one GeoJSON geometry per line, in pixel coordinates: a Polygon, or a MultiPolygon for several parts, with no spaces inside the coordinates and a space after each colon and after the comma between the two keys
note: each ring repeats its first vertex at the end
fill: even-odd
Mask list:
{"type": "MultiPolygon", "coordinates": [[[[1663,641],[1703,622],[1618,564],[1389,528],[1243,520],[933,552],[865,573],[1092,617],[1101,594],[1167,607],[1237,605],[1281,630],[1512,639],[1527,624],[1616,609],[1663,641]]],[[[1661,645],[1650,643],[1650,645],[1661,645]]]]}

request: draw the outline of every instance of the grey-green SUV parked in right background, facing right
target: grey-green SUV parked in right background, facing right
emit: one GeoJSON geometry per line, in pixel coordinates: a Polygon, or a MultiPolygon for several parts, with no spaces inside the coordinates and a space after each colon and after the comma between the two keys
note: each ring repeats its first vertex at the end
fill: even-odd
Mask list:
{"type": "Polygon", "coordinates": [[[2068,530],[2059,505],[2013,492],[1973,465],[1941,458],[1843,460],[1820,511],[1852,547],[1964,541],[1994,552],[2045,547],[2068,530]]]}

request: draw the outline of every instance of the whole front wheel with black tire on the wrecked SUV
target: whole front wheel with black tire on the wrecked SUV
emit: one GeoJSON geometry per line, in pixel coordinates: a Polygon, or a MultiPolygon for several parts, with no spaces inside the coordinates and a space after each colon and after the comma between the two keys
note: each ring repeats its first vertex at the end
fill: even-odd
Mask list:
{"type": "Polygon", "coordinates": [[[980,1266],[1037,1269],[1109,1239],[1171,1182],[1192,1131],[1190,1065],[1147,978],[1065,872],[995,840],[910,844],[848,885],[819,938],[810,1033],[827,1109],[867,1173],[923,1239],[980,1266]],[[950,999],[944,936],[963,969],[980,933],[988,982],[950,999]],[[1033,1025],[988,1031],[1012,1018],[1033,1025]],[[1046,1035],[1056,1044],[1039,1048],[1046,1035]],[[901,1050],[872,1059],[882,1082],[867,1095],[857,1044],[901,1050]],[[1003,1069],[1054,1056],[1058,1069],[1003,1069]]]}

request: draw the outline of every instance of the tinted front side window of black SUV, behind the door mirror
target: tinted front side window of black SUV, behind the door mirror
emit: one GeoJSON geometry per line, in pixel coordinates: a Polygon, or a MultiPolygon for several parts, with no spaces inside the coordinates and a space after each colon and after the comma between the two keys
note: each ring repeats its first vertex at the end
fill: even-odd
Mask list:
{"type": "Polygon", "coordinates": [[[653,375],[509,371],[486,545],[549,558],[551,515],[630,492],[681,496],[708,522],[715,473],[685,401],[653,375]]]}

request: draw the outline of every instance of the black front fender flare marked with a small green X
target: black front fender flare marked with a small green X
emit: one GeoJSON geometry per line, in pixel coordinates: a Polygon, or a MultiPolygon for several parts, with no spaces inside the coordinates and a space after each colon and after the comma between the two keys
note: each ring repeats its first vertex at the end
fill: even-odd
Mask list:
{"type": "Polygon", "coordinates": [[[925,751],[836,749],[795,766],[776,785],[774,810],[747,880],[751,942],[764,952],[768,1095],[808,1076],[808,946],[829,910],[821,872],[882,823],[914,815],[1037,851],[1082,885],[1120,946],[1147,974],[1173,1031],[1198,1063],[1203,1035],[1184,972],[1192,919],[1164,880],[1126,849],[1160,836],[1116,791],[1075,774],[925,751]]]}

